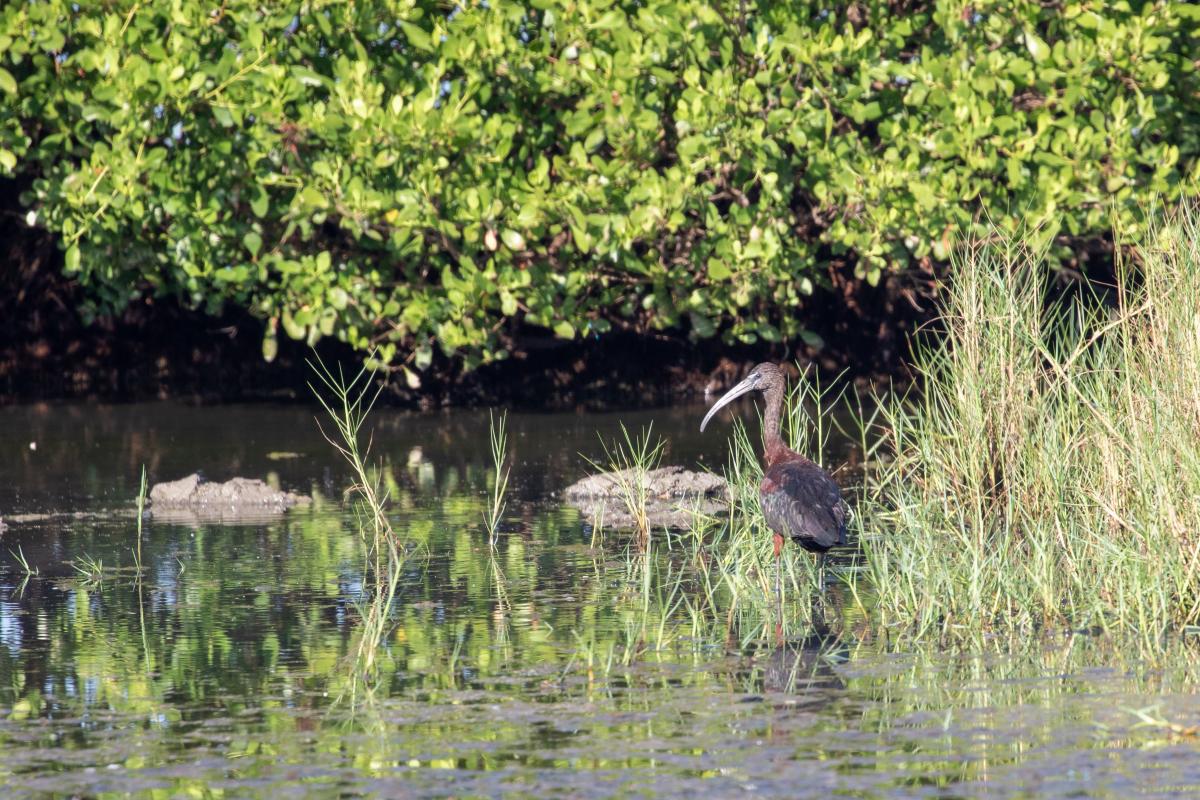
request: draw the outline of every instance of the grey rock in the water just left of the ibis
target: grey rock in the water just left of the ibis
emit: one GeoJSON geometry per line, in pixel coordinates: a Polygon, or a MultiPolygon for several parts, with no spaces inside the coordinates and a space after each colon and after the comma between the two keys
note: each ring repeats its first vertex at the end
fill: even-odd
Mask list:
{"type": "Polygon", "coordinates": [[[696,515],[719,513],[730,501],[724,477],[683,467],[624,469],[589,475],[566,487],[566,501],[605,528],[631,529],[637,521],[629,494],[646,498],[650,528],[688,528],[696,515]]]}

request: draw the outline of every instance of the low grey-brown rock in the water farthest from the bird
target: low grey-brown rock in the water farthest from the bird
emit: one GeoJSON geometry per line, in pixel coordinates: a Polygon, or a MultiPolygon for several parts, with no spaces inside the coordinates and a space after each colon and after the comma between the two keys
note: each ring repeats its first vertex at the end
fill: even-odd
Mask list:
{"type": "Polygon", "coordinates": [[[311,501],[308,497],[274,489],[256,479],[235,477],[218,483],[194,473],[178,481],[155,483],[150,489],[151,512],[156,517],[180,517],[180,522],[277,515],[311,501]]]}

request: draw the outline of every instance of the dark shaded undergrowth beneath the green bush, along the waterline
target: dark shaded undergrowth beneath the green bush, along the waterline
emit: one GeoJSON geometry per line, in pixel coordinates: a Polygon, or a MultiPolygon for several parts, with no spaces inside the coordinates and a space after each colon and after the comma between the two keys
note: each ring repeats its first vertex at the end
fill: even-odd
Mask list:
{"type": "MultiPolygon", "coordinates": [[[[65,398],[204,402],[308,399],[311,350],[278,339],[263,360],[263,321],[227,308],[217,317],[170,297],[143,297],[118,315],[86,319],[84,291],[62,275],[54,237],[24,222],[20,186],[0,182],[0,402],[65,398]]],[[[834,289],[809,299],[803,313],[821,347],[803,342],[755,347],[695,342],[684,331],[646,336],[611,332],[566,342],[529,327],[514,357],[463,372],[434,357],[409,386],[397,374],[382,402],[407,407],[503,404],[515,408],[620,408],[700,397],[757,361],[815,360],[870,380],[906,361],[907,337],[925,321],[919,287],[930,276],[893,276],[880,287],[853,278],[853,264],[828,267],[834,289]]],[[[331,338],[318,343],[328,363],[356,369],[358,356],[331,338]]],[[[902,377],[902,375],[901,375],[902,377]]]]}

